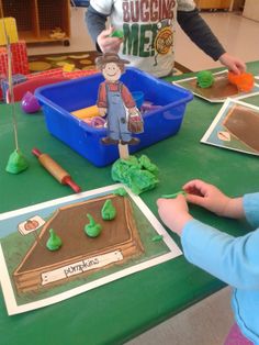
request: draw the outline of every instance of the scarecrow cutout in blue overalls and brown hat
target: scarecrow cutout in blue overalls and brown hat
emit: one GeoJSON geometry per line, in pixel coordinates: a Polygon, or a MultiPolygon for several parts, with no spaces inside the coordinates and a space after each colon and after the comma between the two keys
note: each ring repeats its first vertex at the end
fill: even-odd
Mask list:
{"type": "Polygon", "coordinates": [[[101,116],[108,115],[108,136],[101,142],[104,145],[136,145],[139,138],[133,137],[128,130],[128,119],[138,114],[135,101],[123,82],[120,81],[124,73],[124,65],[130,64],[121,59],[117,54],[105,53],[95,59],[105,81],[99,87],[97,105],[101,116]],[[128,114],[127,114],[128,112],[128,114]]]}

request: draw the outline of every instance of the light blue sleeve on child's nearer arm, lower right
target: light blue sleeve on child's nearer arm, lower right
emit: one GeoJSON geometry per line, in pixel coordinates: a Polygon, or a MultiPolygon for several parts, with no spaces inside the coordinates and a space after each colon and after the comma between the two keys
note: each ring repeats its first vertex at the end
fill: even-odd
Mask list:
{"type": "Polygon", "coordinates": [[[182,231],[187,259],[239,289],[259,289],[259,229],[233,237],[192,220],[182,231]]]}

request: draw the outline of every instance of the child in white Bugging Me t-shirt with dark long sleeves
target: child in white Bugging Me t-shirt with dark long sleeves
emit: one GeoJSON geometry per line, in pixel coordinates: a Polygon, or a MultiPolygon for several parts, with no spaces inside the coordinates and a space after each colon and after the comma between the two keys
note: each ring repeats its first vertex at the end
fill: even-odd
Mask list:
{"type": "Polygon", "coordinates": [[[98,51],[119,53],[132,66],[157,77],[172,73],[176,21],[214,60],[235,74],[245,71],[245,64],[225,52],[193,0],[91,0],[87,11],[88,30],[98,51]],[[108,18],[111,27],[106,30],[108,18]],[[122,32],[123,38],[111,36],[114,31],[122,32]]]}

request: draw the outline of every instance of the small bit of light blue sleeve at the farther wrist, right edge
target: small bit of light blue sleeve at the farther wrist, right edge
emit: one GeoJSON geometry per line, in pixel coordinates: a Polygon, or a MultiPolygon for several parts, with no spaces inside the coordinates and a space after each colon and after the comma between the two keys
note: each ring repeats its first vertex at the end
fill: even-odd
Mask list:
{"type": "Polygon", "coordinates": [[[259,227],[259,192],[244,196],[246,219],[254,227],[259,227]]]}

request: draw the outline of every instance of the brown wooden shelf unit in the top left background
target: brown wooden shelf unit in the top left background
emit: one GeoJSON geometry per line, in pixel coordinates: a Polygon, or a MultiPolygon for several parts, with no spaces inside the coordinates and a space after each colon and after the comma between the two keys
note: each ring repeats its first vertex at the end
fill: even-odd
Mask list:
{"type": "Polygon", "coordinates": [[[0,0],[0,13],[1,16],[15,18],[19,38],[27,43],[67,42],[70,38],[69,0],[0,0]],[[50,37],[57,27],[65,33],[60,40],[50,37]]]}

